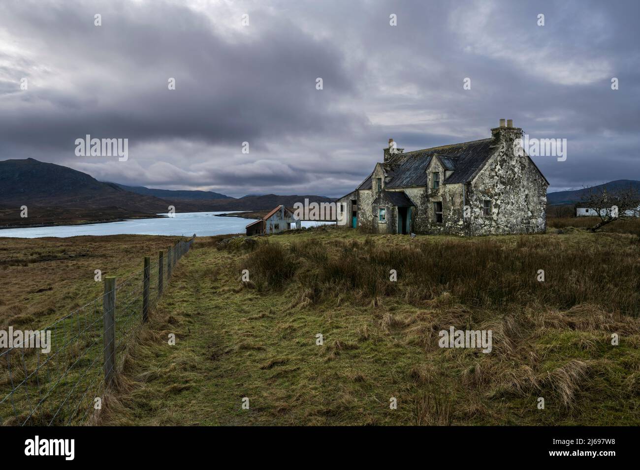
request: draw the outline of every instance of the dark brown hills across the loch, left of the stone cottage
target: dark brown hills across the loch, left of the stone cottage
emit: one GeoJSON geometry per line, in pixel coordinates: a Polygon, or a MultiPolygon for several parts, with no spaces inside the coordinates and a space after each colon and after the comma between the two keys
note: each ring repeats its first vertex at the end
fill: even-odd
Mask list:
{"type": "Polygon", "coordinates": [[[323,196],[245,196],[210,191],[171,191],[104,183],[90,175],[34,159],[0,161],[0,226],[73,224],[177,212],[271,210],[280,204],[330,202],[323,196]],[[158,197],[161,194],[163,197],[158,197]],[[207,196],[208,198],[205,198],[207,196]],[[29,217],[21,218],[26,205],[29,217]]]}

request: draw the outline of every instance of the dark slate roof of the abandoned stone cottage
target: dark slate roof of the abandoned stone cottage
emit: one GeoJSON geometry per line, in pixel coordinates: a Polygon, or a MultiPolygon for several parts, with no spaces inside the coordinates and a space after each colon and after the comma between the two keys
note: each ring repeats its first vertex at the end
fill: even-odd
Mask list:
{"type": "MultiPolygon", "coordinates": [[[[460,144],[444,145],[440,147],[414,150],[413,152],[398,153],[391,157],[390,163],[399,164],[392,179],[385,187],[411,187],[427,184],[426,169],[431,159],[437,155],[446,169],[454,173],[444,180],[445,184],[466,183],[476,176],[477,171],[495,151],[493,139],[481,139],[460,144]]],[[[371,176],[358,189],[370,189],[371,176]],[[363,187],[366,183],[368,187],[363,187]]]]}

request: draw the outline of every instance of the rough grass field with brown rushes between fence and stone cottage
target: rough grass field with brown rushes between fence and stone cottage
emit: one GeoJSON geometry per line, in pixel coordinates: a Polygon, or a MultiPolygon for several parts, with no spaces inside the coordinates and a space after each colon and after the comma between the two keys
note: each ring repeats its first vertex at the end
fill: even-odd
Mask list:
{"type": "Polygon", "coordinates": [[[198,239],[100,423],[638,425],[640,240],[618,228],[198,239]],[[441,349],[451,326],[491,329],[492,352],[441,349]]]}

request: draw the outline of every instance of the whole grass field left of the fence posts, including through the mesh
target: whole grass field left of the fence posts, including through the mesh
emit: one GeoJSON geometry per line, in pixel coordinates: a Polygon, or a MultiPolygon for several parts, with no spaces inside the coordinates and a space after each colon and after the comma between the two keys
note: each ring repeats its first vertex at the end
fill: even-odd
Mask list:
{"type": "Polygon", "coordinates": [[[51,334],[48,353],[0,348],[0,424],[84,422],[102,385],[104,283],[95,270],[116,276],[116,348],[125,349],[141,320],[143,256],[153,256],[150,300],[156,301],[158,251],[179,239],[0,239],[0,331],[51,334]]]}

